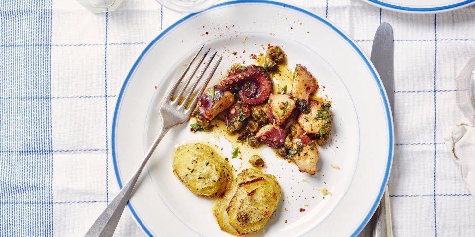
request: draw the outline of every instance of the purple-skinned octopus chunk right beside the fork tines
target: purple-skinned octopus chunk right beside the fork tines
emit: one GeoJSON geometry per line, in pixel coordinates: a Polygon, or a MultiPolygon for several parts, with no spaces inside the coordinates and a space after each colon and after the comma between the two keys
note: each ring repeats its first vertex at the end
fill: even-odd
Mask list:
{"type": "Polygon", "coordinates": [[[215,85],[198,97],[198,111],[207,120],[231,107],[235,98],[226,86],[215,85]]]}

